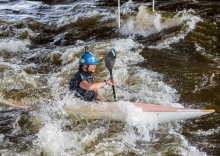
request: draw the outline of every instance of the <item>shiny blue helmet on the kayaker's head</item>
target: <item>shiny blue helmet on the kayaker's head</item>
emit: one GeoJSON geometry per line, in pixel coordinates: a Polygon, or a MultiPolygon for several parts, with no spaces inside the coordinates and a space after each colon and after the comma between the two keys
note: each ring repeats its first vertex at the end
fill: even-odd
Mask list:
{"type": "Polygon", "coordinates": [[[79,65],[89,65],[89,64],[99,64],[99,62],[96,60],[96,57],[92,53],[87,51],[80,56],[79,65]]]}

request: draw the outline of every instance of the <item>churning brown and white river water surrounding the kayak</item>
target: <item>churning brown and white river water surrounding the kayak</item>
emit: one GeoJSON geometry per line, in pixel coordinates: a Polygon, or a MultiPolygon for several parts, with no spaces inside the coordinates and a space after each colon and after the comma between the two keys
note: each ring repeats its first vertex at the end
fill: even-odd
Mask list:
{"type": "MultiPolygon", "coordinates": [[[[0,0],[0,155],[219,155],[219,20],[218,1],[161,1],[155,12],[150,2],[123,1],[118,28],[115,1],[0,0]],[[65,111],[83,103],[68,83],[84,46],[100,62],[97,81],[109,77],[103,58],[116,50],[125,122],[65,111]],[[124,101],[216,112],[159,124],[124,101]]],[[[110,87],[99,91],[113,100],[110,87]]]]}

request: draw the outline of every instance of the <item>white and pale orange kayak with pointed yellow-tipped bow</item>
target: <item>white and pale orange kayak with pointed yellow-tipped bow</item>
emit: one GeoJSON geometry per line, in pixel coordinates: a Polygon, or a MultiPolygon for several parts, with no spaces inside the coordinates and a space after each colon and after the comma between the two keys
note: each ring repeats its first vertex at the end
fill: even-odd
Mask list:
{"type": "Polygon", "coordinates": [[[87,120],[107,119],[126,121],[133,117],[146,122],[153,121],[158,123],[186,120],[215,112],[212,109],[200,110],[130,102],[103,102],[66,106],[65,110],[69,115],[87,120]]]}

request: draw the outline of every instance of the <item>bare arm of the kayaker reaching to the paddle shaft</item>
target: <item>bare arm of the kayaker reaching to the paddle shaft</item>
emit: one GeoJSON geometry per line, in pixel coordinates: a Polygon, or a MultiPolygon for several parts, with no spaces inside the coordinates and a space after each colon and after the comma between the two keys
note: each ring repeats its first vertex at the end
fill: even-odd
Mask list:
{"type": "Polygon", "coordinates": [[[106,82],[103,81],[103,82],[94,82],[94,83],[89,83],[89,82],[87,82],[86,80],[82,80],[82,81],[79,83],[79,86],[80,86],[81,88],[83,88],[83,89],[89,91],[89,90],[97,90],[97,89],[99,89],[99,88],[105,86],[106,83],[107,83],[108,85],[114,85],[114,84],[115,84],[115,82],[112,82],[111,79],[106,80],[106,82]]]}

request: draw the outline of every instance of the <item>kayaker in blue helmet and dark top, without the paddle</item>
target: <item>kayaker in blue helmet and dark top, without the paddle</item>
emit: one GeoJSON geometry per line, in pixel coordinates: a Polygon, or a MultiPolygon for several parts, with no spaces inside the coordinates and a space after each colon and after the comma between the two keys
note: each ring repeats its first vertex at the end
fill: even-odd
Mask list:
{"type": "Polygon", "coordinates": [[[74,91],[76,97],[85,101],[102,101],[104,97],[98,92],[98,89],[105,85],[115,84],[111,78],[103,82],[95,82],[93,73],[98,64],[96,57],[91,52],[88,52],[86,47],[85,53],[79,59],[79,69],[73,75],[69,84],[70,91],[74,91]]]}

